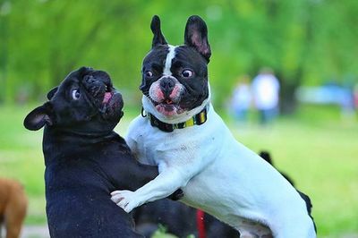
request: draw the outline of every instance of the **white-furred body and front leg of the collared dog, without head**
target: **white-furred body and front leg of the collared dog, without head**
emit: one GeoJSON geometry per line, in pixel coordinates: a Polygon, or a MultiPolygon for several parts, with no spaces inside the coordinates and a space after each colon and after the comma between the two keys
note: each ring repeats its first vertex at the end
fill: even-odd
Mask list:
{"type": "MultiPolygon", "coordinates": [[[[145,110],[163,120],[148,98],[143,97],[142,102],[145,110]]],[[[207,103],[163,121],[186,121],[207,103]]],[[[206,123],[169,133],[152,127],[140,115],[132,121],[126,141],[141,163],[158,165],[159,175],[137,191],[113,193],[112,199],[125,211],[182,188],[184,203],[205,210],[242,235],[255,230],[253,221],[268,225],[277,238],[316,237],[306,205],[294,187],[237,142],[211,105],[206,123]]],[[[261,233],[255,231],[268,234],[262,225],[261,233]]]]}

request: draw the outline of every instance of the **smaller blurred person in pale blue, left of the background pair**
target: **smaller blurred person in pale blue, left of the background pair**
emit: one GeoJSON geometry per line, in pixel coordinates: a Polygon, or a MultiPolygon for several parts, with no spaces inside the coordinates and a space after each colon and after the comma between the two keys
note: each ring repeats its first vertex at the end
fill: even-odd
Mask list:
{"type": "Polygon", "coordinates": [[[243,75],[242,77],[238,78],[238,81],[233,91],[233,96],[231,98],[230,107],[234,113],[235,119],[241,122],[246,122],[250,105],[250,78],[248,75],[243,75]]]}

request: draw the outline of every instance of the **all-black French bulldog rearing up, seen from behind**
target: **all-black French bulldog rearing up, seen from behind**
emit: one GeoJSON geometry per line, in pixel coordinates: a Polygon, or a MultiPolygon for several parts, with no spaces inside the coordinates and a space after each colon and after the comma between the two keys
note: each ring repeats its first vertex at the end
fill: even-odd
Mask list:
{"type": "Polygon", "coordinates": [[[136,190],[158,175],[140,165],[113,129],[124,101],[107,72],[71,72],[24,120],[45,126],[43,152],[47,223],[51,237],[142,237],[132,217],[110,200],[119,188],[136,190]]]}

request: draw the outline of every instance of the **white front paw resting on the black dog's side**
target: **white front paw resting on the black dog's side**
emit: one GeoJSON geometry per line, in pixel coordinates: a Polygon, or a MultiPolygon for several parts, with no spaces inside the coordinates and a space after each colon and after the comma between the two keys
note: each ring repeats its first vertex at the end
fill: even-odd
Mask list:
{"type": "Polygon", "coordinates": [[[140,206],[140,201],[136,199],[134,191],[112,191],[111,196],[111,200],[127,213],[130,213],[133,208],[140,206]]]}

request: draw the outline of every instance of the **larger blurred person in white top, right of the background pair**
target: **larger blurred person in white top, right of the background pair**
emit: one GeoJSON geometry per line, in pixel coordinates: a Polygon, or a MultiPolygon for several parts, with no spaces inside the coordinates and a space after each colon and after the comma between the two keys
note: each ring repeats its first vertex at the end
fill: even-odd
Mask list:
{"type": "Polygon", "coordinates": [[[260,123],[267,124],[278,113],[280,85],[269,68],[262,68],[251,84],[253,101],[260,113],[260,123]]]}

